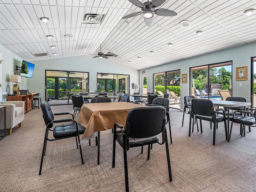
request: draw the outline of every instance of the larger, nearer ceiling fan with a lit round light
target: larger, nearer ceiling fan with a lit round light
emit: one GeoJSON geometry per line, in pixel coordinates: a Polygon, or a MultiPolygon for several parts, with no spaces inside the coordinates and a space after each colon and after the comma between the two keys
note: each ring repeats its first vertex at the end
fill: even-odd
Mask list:
{"type": "Polygon", "coordinates": [[[142,15],[142,17],[145,20],[146,26],[150,26],[152,24],[152,18],[154,14],[159,15],[159,16],[176,16],[177,13],[168,10],[168,9],[155,9],[156,7],[159,7],[162,5],[166,0],[152,0],[152,1],[147,1],[147,2],[140,2],[138,0],[128,0],[135,6],[141,8],[141,12],[135,12],[129,15],[124,16],[122,19],[127,19],[130,17],[135,17],[137,15],[142,15]]]}

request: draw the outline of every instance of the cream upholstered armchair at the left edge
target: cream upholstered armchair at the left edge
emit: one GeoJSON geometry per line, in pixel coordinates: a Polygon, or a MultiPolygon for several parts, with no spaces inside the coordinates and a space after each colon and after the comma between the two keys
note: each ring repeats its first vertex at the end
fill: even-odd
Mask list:
{"type": "Polygon", "coordinates": [[[12,134],[12,128],[21,126],[24,120],[24,101],[1,101],[0,106],[6,106],[7,134],[12,134]]]}

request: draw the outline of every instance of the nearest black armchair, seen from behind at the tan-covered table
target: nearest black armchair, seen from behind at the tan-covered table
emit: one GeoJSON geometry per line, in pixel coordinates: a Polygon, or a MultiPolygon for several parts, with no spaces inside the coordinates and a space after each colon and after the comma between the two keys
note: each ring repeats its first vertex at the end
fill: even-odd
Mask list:
{"type": "MultiPolygon", "coordinates": [[[[165,128],[166,110],[162,106],[143,107],[131,109],[126,118],[126,125],[119,122],[114,124],[112,168],[115,167],[116,141],[123,148],[125,190],[129,191],[127,151],[132,147],[148,145],[148,160],[150,158],[150,144],[165,143],[169,172],[169,181],[172,181],[170,156],[168,149],[167,133],[165,128]],[[120,130],[117,130],[120,128],[120,130]],[[159,142],[158,134],[162,134],[159,142]]],[[[161,159],[163,159],[161,157],[161,159]]]]}

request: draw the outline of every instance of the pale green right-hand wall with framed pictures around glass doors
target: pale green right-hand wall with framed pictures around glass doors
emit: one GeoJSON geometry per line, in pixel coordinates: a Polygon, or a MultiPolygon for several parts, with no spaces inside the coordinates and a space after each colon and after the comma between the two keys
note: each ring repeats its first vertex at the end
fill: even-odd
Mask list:
{"type": "MultiPolygon", "coordinates": [[[[165,71],[180,70],[180,74],[188,74],[188,83],[181,83],[181,109],[184,108],[183,98],[189,95],[189,68],[194,66],[201,66],[206,64],[213,64],[218,62],[233,61],[232,65],[232,94],[233,96],[245,97],[250,102],[250,70],[251,57],[256,56],[256,43],[237,48],[231,48],[212,54],[198,56],[195,58],[182,60],[157,66],[153,68],[144,69],[148,74],[148,91],[153,88],[153,74],[165,71]],[[236,81],[236,67],[247,66],[247,80],[236,81]],[[239,86],[242,83],[242,87],[239,86]]],[[[142,70],[140,70],[142,74],[142,70]]]]}

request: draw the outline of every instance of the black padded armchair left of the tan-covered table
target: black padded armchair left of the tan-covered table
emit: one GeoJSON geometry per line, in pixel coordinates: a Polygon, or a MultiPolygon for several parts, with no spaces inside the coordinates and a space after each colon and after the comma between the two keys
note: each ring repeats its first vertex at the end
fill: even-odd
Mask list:
{"type": "MultiPolygon", "coordinates": [[[[71,113],[62,112],[62,113],[54,113],[53,114],[51,107],[47,101],[42,101],[40,105],[41,105],[41,110],[42,110],[42,114],[43,114],[43,118],[44,118],[44,123],[46,124],[46,131],[45,131],[45,136],[44,136],[44,145],[43,145],[39,175],[42,172],[42,165],[43,165],[43,159],[44,159],[44,156],[46,153],[47,141],[56,141],[56,140],[60,140],[60,139],[75,137],[76,138],[76,146],[78,148],[78,143],[80,143],[79,134],[83,134],[84,130],[86,129],[84,126],[78,124],[74,120],[74,116],[71,113]],[[59,115],[71,115],[72,118],[56,119],[55,120],[54,116],[59,116],[59,115]],[[58,125],[54,126],[54,124],[56,124],[56,123],[58,123],[58,125]],[[63,123],[63,124],[60,124],[60,123],[63,123]],[[53,126],[54,126],[54,128],[52,129],[53,126]],[[52,132],[53,138],[52,138],[52,136],[51,136],[51,138],[48,138],[49,131],[52,132]],[[77,142],[77,138],[78,138],[78,142],[77,142]]],[[[79,145],[79,148],[80,148],[82,164],[84,164],[82,149],[81,149],[80,145],[79,145]]]]}

